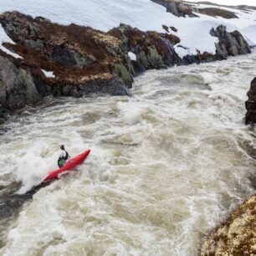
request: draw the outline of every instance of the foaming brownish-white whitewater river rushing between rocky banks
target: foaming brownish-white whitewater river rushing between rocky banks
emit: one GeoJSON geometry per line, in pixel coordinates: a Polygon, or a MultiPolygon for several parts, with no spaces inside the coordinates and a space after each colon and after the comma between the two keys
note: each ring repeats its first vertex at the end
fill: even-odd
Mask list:
{"type": "Polygon", "coordinates": [[[255,192],[243,125],[254,76],[255,52],[147,72],[131,97],[49,98],[14,115],[0,136],[2,193],[56,168],[61,144],[91,154],[0,223],[0,254],[197,255],[203,234],[255,192]]]}

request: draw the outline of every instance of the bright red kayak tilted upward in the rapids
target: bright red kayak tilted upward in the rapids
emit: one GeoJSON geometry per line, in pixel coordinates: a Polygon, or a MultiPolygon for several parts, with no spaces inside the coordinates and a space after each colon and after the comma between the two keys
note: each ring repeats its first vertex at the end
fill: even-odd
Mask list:
{"type": "Polygon", "coordinates": [[[89,154],[90,150],[87,150],[78,156],[74,156],[69,161],[67,161],[67,163],[63,167],[53,172],[49,172],[49,175],[44,178],[44,182],[49,182],[54,179],[57,179],[59,177],[59,174],[63,172],[73,171],[76,166],[79,166],[84,162],[84,160],[87,158],[87,156],[89,156],[89,154]]]}

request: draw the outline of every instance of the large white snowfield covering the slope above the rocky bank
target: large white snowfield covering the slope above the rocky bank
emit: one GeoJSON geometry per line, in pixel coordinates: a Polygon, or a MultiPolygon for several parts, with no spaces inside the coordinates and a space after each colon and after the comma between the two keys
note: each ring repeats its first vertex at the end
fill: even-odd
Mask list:
{"type": "Polygon", "coordinates": [[[213,38],[209,31],[217,28],[219,24],[226,25],[229,31],[243,28],[243,36],[256,44],[256,36],[249,29],[255,24],[255,11],[243,13],[236,10],[239,19],[213,18],[202,14],[199,15],[200,18],[177,18],[172,13],[166,13],[166,8],[150,0],[12,0],[1,3],[0,13],[13,10],[33,17],[43,16],[54,23],[77,23],[103,31],[108,31],[120,23],[130,24],[143,31],[155,30],[162,33],[166,32],[162,25],[173,26],[178,29],[175,34],[181,38],[180,44],[187,48],[178,50],[181,57],[197,54],[197,49],[214,54],[214,44],[218,42],[218,38],[213,38]]]}

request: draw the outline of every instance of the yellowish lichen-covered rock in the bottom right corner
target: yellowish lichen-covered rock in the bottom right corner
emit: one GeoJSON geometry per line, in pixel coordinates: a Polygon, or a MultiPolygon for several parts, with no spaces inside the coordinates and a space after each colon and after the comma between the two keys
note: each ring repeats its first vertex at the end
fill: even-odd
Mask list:
{"type": "Polygon", "coordinates": [[[201,256],[256,255],[256,196],[238,207],[202,243],[201,256]]]}

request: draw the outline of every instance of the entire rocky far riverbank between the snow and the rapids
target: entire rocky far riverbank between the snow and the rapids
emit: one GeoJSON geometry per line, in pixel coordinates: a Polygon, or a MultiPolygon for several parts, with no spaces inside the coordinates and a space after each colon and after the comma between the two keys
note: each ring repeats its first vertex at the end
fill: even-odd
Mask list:
{"type": "Polygon", "coordinates": [[[197,55],[181,59],[173,47],[180,43],[180,38],[170,33],[168,27],[166,33],[156,33],[120,24],[104,33],[17,12],[3,13],[0,23],[15,42],[3,46],[18,54],[13,57],[0,50],[2,118],[24,105],[36,104],[46,95],[129,95],[133,77],[148,69],[199,64],[250,53],[241,33],[228,33],[224,26],[209,32],[219,38],[216,54],[198,50],[197,55]]]}

